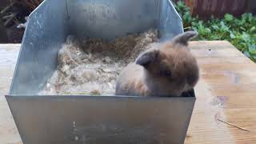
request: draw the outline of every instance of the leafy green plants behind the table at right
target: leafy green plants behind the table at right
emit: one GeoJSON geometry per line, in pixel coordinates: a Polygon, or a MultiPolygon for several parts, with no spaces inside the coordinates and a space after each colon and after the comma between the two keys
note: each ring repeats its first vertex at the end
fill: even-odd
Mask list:
{"type": "Polygon", "coordinates": [[[226,14],[222,19],[212,16],[202,21],[190,14],[184,2],[177,2],[175,8],[182,17],[184,30],[198,31],[197,40],[229,41],[256,62],[256,17],[253,14],[242,14],[240,18],[226,14]]]}

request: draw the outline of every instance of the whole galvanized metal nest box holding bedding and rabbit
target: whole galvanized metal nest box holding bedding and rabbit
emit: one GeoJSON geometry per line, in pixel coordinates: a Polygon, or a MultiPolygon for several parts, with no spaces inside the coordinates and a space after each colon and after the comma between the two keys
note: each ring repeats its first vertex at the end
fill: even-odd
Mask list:
{"type": "Polygon", "coordinates": [[[38,95],[68,34],[111,40],[151,27],[182,33],[169,0],[45,0],[30,14],[10,94],[24,144],[183,143],[194,91],[184,97],[38,95]]]}

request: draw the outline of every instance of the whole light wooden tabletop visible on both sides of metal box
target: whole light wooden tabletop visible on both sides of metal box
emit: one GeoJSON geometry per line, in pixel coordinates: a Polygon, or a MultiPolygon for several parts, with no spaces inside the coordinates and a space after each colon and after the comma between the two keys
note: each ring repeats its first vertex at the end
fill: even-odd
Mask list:
{"type": "MultiPolygon", "coordinates": [[[[0,144],[22,144],[4,98],[19,47],[0,44],[0,144]]],[[[190,42],[190,47],[201,79],[185,143],[256,144],[256,64],[229,42],[190,42]]]]}

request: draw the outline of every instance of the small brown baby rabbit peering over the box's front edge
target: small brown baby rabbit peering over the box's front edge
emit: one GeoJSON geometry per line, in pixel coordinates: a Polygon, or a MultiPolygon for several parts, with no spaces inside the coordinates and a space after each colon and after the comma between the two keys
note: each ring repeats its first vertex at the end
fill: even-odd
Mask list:
{"type": "Polygon", "coordinates": [[[140,54],[120,73],[116,95],[181,96],[193,89],[199,68],[187,45],[197,35],[188,31],[140,54]]]}

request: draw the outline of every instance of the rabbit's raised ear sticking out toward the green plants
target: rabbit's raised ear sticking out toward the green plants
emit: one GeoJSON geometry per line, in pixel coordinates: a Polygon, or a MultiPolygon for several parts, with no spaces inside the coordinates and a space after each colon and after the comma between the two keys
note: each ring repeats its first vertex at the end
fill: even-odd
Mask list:
{"type": "Polygon", "coordinates": [[[178,34],[176,37],[172,39],[172,42],[174,44],[180,44],[182,46],[187,46],[188,42],[196,38],[198,36],[198,33],[196,31],[186,31],[183,34],[178,34]]]}

